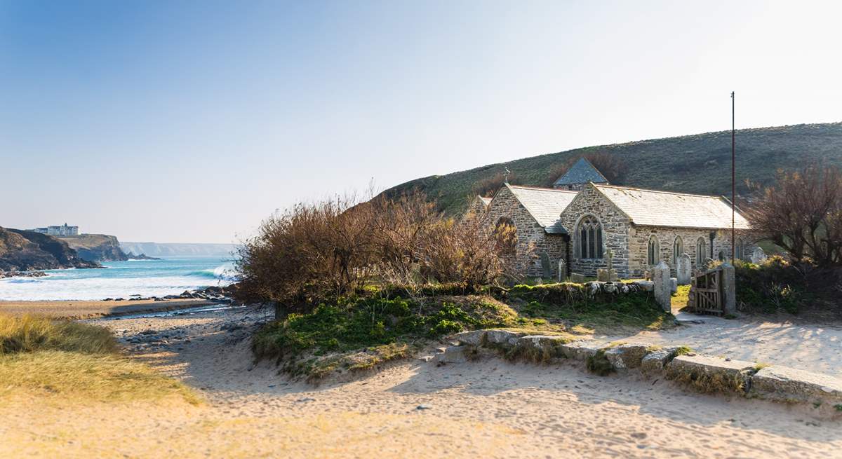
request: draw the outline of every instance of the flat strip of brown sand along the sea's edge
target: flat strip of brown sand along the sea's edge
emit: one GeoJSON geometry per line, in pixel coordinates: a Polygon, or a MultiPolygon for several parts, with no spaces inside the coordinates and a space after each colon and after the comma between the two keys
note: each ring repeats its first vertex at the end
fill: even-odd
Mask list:
{"type": "Polygon", "coordinates": [[[219,301],[202,298],[179,298],[166,301],[152,300],[45,300],[13,301],[0,300],[0,314],[21,316],[25,314],[45,315],[51,319],[97,319],[127,314],[157,313],[199,306],[221,304],[219,301]]]}

